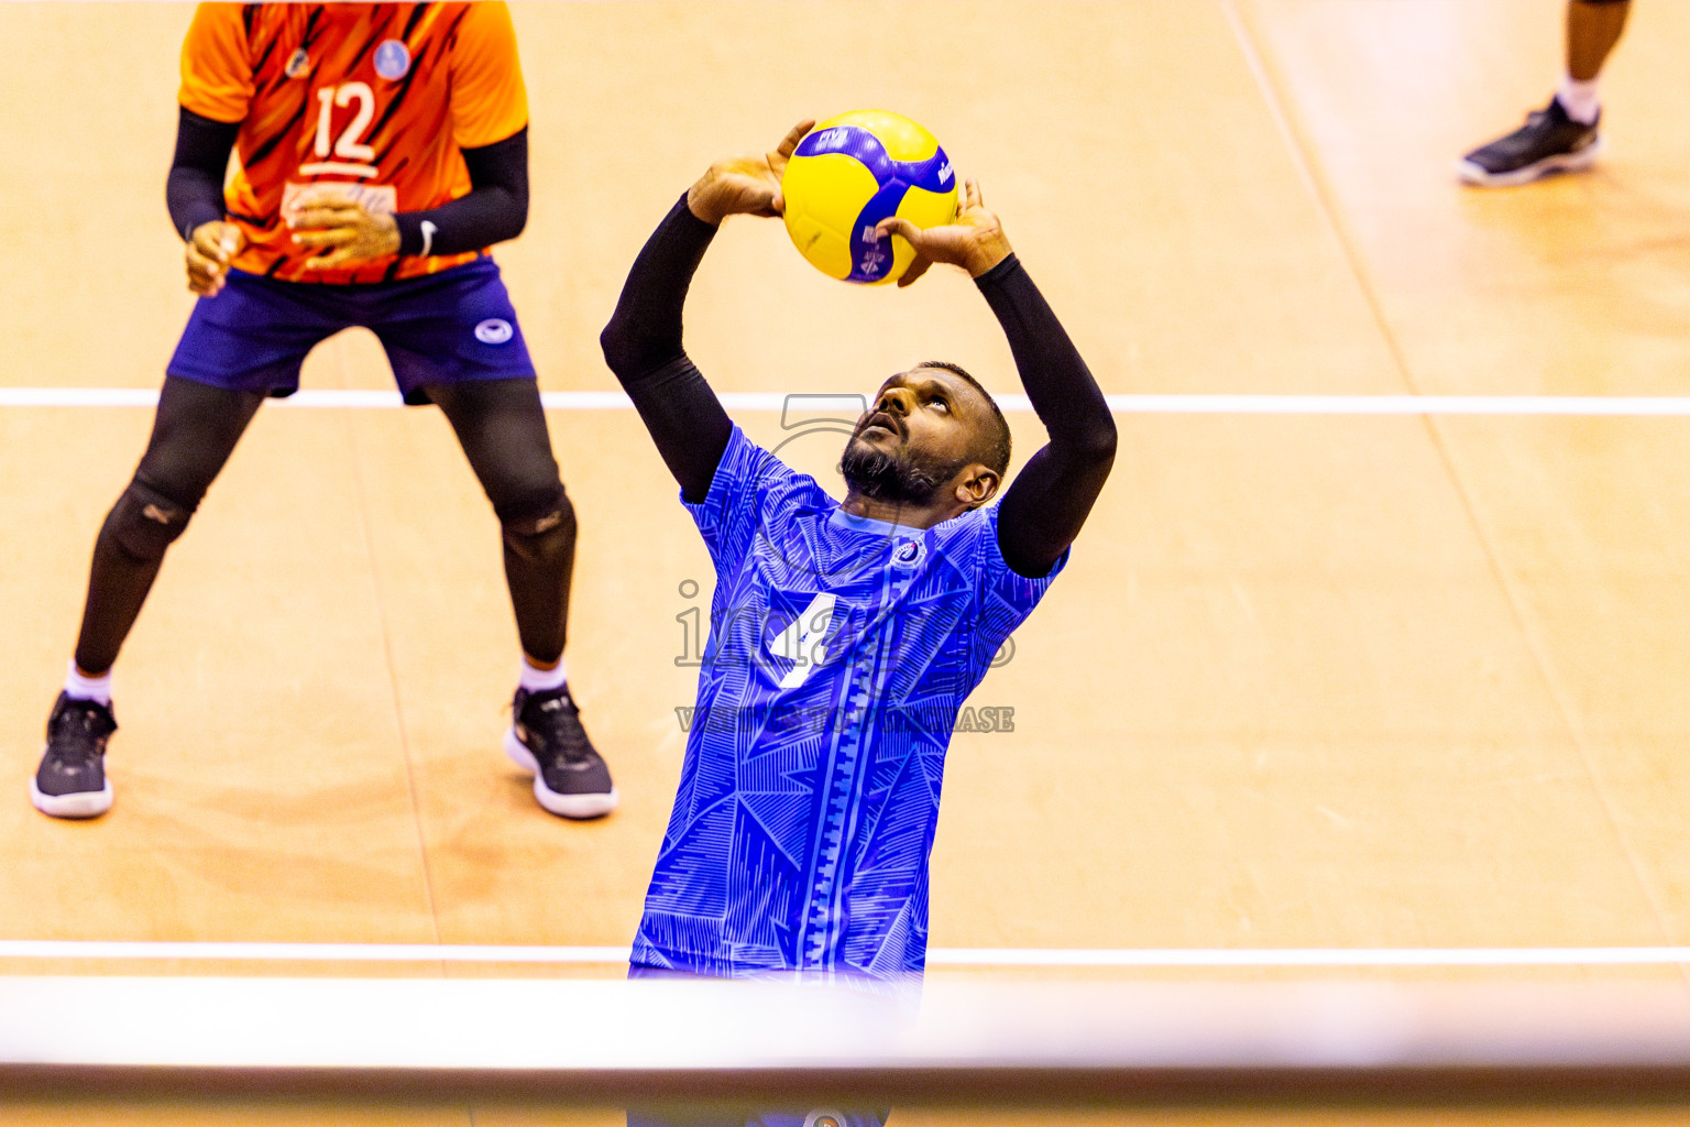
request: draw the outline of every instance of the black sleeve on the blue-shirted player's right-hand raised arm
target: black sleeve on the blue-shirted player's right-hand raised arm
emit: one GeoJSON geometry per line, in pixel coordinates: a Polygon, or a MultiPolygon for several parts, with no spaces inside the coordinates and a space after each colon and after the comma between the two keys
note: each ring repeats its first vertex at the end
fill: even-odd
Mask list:
{"type": "Polygon", "coordinates": [[[1017,574],[1038,578],[1068,551],[1104,488],[1115,461],[1115,421],[1016,255],[982,274],[979,286],[1004,326],[1021,384],[1051,439],[1016,475],[997,510],[1004,561],[1017,574]]]}

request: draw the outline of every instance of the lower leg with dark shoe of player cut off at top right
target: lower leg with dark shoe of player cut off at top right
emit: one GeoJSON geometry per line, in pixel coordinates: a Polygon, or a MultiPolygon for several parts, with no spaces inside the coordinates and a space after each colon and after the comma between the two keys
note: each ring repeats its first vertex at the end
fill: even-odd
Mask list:
{"type": "Polygon", "coordinates": [[[1543,110],[1455,166],[1457,174],[1480,188],[1524,184],[1550,172],[1590,167],[1602,152],[1602,101],[1597,78],[1626,30],[1631,0],[1568,0],[1567,73],[1543,110]]]}

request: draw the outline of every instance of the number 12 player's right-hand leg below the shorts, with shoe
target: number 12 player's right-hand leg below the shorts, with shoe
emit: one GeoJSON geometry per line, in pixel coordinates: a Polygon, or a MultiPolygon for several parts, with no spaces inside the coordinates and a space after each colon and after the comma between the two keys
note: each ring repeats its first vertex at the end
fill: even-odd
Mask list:
{"type": "Polygon", "coordinates": [[[610,769],[586,738],[563,647],[575,571],[575,505],[551,453],[539,387],[526,380],[429,385],[499,515],[505,581],[522,640],[505,754],[534,776],[534,798],[564,818],[617,806],[610,769]]]}

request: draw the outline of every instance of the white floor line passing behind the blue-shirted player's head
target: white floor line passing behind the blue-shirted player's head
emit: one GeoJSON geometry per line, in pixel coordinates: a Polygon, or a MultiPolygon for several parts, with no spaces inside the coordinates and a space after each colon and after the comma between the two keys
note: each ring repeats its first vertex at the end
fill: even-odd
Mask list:
{"type": "MultiPolygon", "coordinates": [[[[782,392],[725,392],[728,411],[782,411],[782,392]]],[[[1690,395],[1109,395],[1117,414],[1273,414],[1273,416],[1690,416],[1690,395]]],[[[632,411],[622,392],[546,392],[553,411],[632,411]]],[[[142,387],[0,387],[0,407],[152,407],[159,394],[142,387]]],[[[1026,395],[999,395],[1004,411],[1031,411],[1026,395]]],[[[392,409],[397,392],[303,390],[275,400],[282,407],[392,409]]]]}

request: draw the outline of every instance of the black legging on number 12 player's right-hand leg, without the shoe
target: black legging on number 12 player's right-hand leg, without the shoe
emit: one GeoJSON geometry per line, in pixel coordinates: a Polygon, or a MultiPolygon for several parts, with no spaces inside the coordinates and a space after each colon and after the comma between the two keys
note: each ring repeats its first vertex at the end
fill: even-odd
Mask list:
{"type": "Polygon", "coordinates": [[[463,446],[504,536],[505,581],[522,652],[563,656],[575,571],[575,507],[551,453],[534,380],[473,380],[428,389],[463,446]]]}

